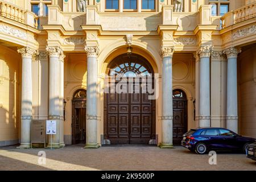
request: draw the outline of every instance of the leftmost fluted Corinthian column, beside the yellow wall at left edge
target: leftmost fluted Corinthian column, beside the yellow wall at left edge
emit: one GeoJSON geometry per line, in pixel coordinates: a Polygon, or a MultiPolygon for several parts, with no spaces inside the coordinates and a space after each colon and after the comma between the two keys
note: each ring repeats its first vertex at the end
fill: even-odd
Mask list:
{"type": "Polygon", "coordinates": [[[21,101],[21,129],[20,146],[30,148],[30,129],[32,119],[32,56],[35,50],[24,47],[18,49],[22,55],[22,101],[21,101]]]}

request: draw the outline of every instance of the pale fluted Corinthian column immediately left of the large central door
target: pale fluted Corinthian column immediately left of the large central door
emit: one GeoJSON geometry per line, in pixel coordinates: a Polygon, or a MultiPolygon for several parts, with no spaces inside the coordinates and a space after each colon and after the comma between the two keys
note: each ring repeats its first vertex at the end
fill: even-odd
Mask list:
{"type": "Polygon", "coordinates": [[[84,148],[98,148],[97,143],[97,55],[98,47],[85,47],[87,54],[86,144],[84,148]]]}

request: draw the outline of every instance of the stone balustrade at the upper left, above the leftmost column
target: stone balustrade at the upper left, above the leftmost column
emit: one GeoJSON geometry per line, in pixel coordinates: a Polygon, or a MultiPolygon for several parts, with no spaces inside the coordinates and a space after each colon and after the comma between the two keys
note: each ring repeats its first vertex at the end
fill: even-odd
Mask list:
{"type": "Polygon", "coordinates": [[[0,16],[38,28],[38,16],[9,2],[0,0],[0,16]]]}

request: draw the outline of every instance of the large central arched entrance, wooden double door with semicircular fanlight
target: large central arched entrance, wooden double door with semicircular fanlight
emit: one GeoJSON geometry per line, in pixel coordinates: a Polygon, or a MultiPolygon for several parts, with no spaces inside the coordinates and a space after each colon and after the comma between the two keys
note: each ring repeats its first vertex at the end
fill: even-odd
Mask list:
{"type": "Polygon", "coordinates": [[[141,77],[148,76],[154,88],[150,63],[140,55],[123,54],[110,62],[106,73],[114,76],[114,92],[110,85],[109,93],[104,93],[104,139],[111,144],[148,144],[155,139],[155,100],[148,99],[150,93],[144,91],[151,85],[141,77]],[[126,93],[115,92],[120,81],[118,76],[132,79],[130,85],[122,85],[126,93]],[[133,92],[129,92],[129,88],[133,88],[133,92]]]}

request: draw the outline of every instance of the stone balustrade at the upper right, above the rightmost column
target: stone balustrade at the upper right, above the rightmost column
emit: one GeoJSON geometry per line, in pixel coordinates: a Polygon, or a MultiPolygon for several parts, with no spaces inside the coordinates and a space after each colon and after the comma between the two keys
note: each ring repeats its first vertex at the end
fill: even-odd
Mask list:
{"type": "Polygon", "coordinates": [[[256,2],[250,3],[240,9],[230,11],[222,16],[221,28],[232,26],[233,24],[242,22],[244,20],[254,18],[256,16],[256,2]]]}

